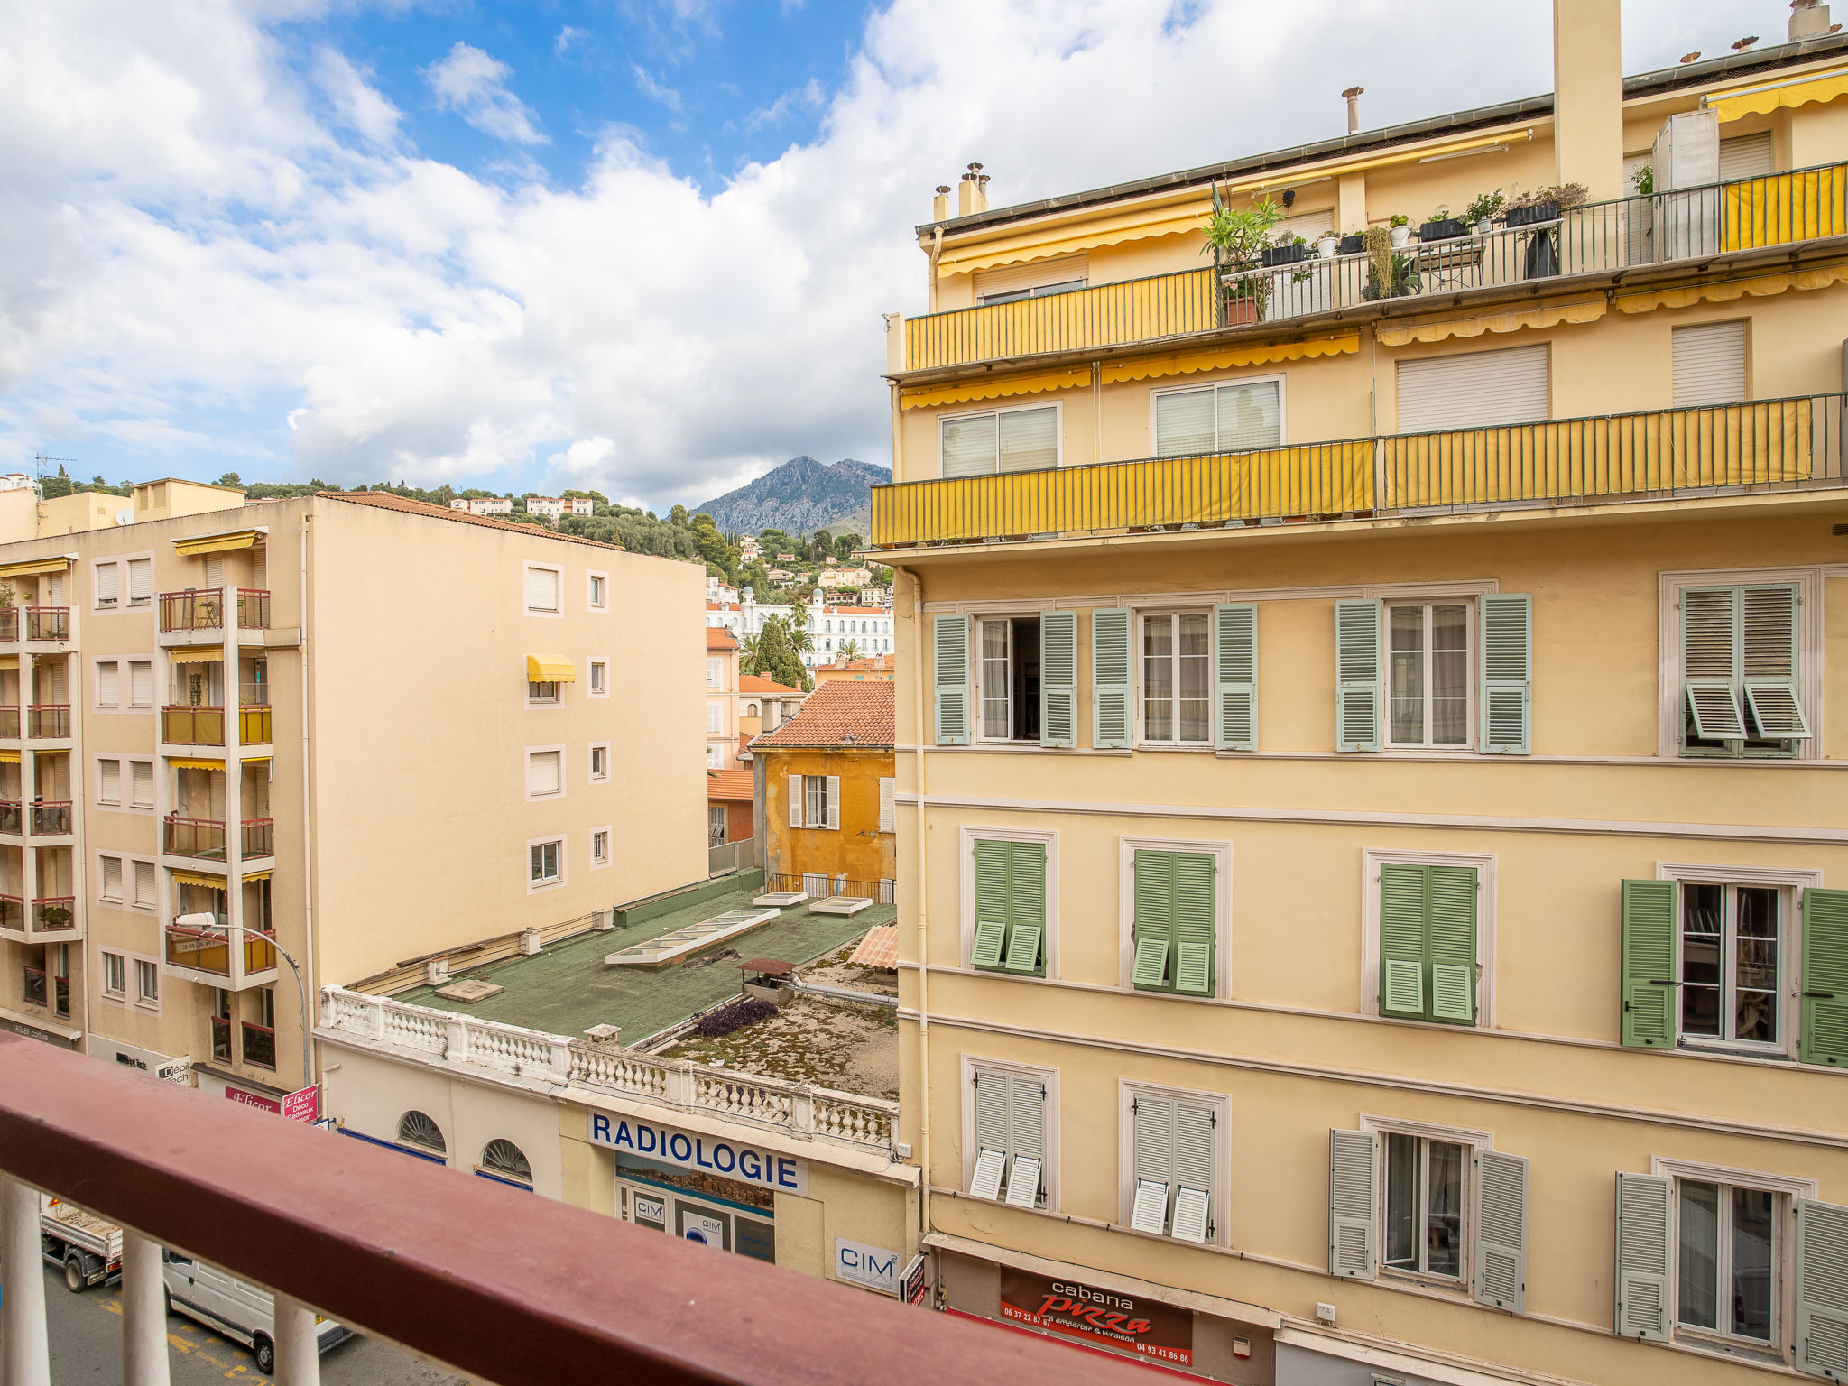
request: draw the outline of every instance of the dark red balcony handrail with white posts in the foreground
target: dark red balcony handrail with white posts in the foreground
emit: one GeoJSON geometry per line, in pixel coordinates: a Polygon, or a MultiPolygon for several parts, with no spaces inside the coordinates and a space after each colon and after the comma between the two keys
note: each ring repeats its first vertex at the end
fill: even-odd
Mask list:
{"type": "MultiPolygon", "coordinates": [[[[499,1386],[1149,1380],[1138,1362],[713,1255],[13,1035],[0,1037],[0,1168],[266,1286],[281,1312],[327,1314],[499,1386]]],[[[7,1201],[33,1212],[13,1223],[31,1242],[9,1264],[31,1264],[37,1198],[7,1201]]],[[[126,1342],[166,1351],[157,1257],[137,1247],[124,1275],[126,1342]]],[[[20,1323],[44,1303],[43,1279],[26,1279],[6,1286],[20,1323]]],[[[44,1343],[9,1340],[35,1380],[44,1343]]]]}

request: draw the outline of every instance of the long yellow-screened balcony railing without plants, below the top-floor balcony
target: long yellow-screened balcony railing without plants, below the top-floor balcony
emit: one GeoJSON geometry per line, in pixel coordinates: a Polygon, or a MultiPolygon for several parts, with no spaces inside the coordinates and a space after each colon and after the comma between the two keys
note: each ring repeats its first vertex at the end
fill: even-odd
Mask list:
{"type": "Polygon", "coordinates": [[[1844,395],[872,488],[898,547],[1841,486],[1844,395]]]}

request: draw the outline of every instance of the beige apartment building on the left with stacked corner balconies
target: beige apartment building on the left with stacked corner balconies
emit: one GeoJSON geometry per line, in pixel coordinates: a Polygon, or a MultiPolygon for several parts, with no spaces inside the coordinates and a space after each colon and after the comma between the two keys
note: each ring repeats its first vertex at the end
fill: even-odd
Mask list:
{"type": "Polygon", "coordinates": [[[697,565],[322,493],[11,543],[0,582],[15,1029],[274,1105],[312,1081],[290,959],[312,1016],[706,874],[697,565]]]}

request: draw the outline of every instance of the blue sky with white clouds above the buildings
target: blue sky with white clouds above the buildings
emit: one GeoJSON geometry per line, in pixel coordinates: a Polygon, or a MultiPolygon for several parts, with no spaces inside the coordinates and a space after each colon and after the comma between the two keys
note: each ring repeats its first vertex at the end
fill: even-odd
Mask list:
{"type": "MultiPolygon", "coordinates": [[[[1624,70],[1785,0],[1623,0],[1624,70]]],[[[0,469],[665,512],[891,464],[994,205],[1550,91],[1545,0],[0,0],[0,469]],[[1460,15],[1467,13],[1467,20],[1460,15]],[[55,471],[54,464],[48,469],[55,471]]]]}

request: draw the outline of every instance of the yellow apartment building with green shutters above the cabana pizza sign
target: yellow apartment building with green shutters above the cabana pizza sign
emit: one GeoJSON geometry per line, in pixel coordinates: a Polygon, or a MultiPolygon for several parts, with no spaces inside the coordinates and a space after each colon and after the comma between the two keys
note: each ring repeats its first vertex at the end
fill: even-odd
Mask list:
{"type": "Polygon", "coordinates": [[[870,551],[941,1307],[1262,1386],[1848,1377],[1818,9],[1624,78],[1558,0],[1550,96],[918,227],[870,551]]]}

